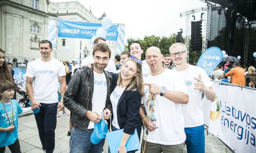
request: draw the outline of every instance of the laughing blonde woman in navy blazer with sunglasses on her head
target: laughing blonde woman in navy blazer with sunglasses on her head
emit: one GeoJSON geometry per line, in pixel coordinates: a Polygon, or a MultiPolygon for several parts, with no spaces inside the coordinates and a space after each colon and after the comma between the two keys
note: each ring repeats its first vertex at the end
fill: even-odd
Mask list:
{"type": "MultiPolygon", "coordinates": [[[[135,57],[134,57],[135,58],[135,57]]],[[[135,128],[140,139],[141,118],[139,116],[141,97],[144,96],[141,61],[129,58],[121,67],[119,74],[114,74],[112,103],[112,131],[124,129],[124,135],[117,149],[126,152],[126,142],[135,128]]],[[[110,152],[110,151],[108,151],[110,152]]],[[[135,151],[132,151],[135,152],[135,151]]]]}

